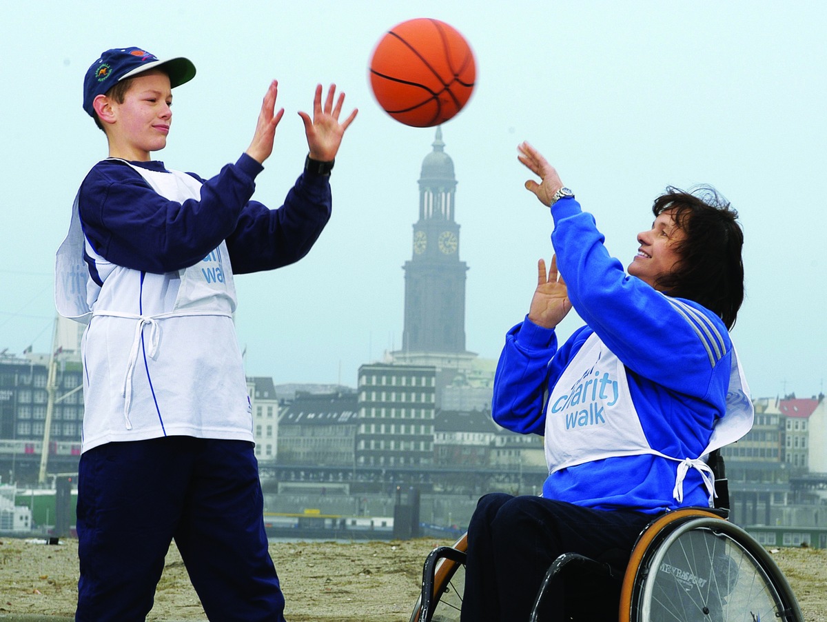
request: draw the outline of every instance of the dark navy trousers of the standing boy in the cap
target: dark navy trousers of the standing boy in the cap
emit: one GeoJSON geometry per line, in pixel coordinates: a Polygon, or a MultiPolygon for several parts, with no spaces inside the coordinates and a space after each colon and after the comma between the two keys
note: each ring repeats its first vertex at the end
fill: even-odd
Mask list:
{"type": "Polygon", "coordinates": [[[80,458],[75,620],[144,620],[174,538],[210,620],[283,622],[252,443],[108,443],[80,458]]]}

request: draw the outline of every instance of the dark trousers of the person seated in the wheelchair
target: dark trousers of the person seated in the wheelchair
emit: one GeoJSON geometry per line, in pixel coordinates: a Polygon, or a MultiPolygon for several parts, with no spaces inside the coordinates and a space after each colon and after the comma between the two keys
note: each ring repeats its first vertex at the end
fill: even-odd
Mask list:
{"type": "MultiPolygon", "coordinates": [[[[493,493],[468,526],[462,622],[523,622],[548,567],[562,553],[630,553],[649,514],[581,508],[537,496],[493,493]]],[[[599,594],[594,595],[600,598],[599,594]]],[[[546,599],[543,620],[563,620],[562,587],[546,599]]]]}

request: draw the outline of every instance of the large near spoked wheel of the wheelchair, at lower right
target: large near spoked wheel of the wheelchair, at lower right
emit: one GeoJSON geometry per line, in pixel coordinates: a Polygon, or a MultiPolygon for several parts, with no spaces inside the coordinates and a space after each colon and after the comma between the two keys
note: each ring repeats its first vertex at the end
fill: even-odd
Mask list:
{"type": "Polygon", "coordinates": [[[803,620],[769,553],[719,518],[668,525],[661,542],[640,557],[631,586],[621,622],[803,620]]]}

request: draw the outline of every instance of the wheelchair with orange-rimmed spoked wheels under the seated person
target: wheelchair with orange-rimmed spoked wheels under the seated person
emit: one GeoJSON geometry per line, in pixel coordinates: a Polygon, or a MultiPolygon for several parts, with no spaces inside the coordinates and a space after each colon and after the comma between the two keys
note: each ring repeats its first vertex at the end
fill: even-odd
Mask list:
{"type": "MultiPolygon", "coordinates": [[[[719,469],[723,471],[722,461],[719,469]]],[[[727,520],[726,481],[716,479],[715,487],[722,490],[719,505],[724,507],[661,514],[640,533],[631,555],[609,551],[600,559],[576,553],[557,557],[543,578],[529,622],[541,622],[540,610],[553,581],[563,581],[566,620],[803,622],[796,596],[776,562],[727,520]]],[[[451,547],[428,554],[410,622],[460,619],[466,547],[463,535],[451,547]]]]}

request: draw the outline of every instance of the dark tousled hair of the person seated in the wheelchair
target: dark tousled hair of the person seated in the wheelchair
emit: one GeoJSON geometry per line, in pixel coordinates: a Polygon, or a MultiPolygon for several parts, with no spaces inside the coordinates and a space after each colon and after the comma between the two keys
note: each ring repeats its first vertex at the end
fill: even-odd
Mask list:
{"type": "Polygon", "coordinates": [[[743,303],[743,230],[738,212],[711,186],[686,192],[668,187],[652,206],[655,218],[669,212],[684,232],[676,269],[657,280],[659,289],[694,300],[732,328],[743,303]]]}

